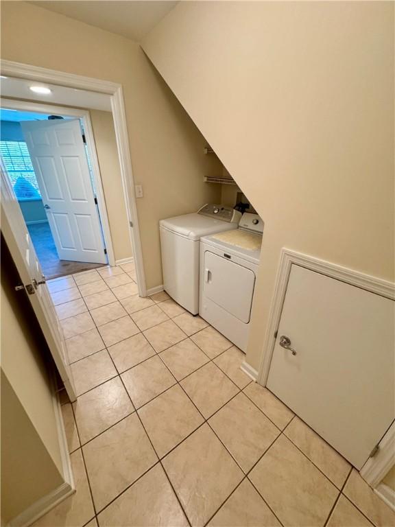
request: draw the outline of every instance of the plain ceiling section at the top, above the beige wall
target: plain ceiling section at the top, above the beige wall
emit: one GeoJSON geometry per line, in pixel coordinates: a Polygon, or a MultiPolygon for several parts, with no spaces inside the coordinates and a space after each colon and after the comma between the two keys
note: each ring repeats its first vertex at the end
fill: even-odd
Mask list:
{"type": "Polygon", "coordinates": [[[45,0],[41,8],[69,16],[102,30],[141,40],[178,3],[156,0],[45,0]]]}

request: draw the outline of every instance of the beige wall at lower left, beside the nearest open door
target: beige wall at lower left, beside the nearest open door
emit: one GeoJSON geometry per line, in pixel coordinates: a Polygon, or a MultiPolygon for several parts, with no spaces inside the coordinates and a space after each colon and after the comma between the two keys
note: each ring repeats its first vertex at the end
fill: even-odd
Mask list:
{"type": "Polygon", "coordinates": [[[2,250],[1,517],[3,524],[62,484],[46,345],[2,250]]]}

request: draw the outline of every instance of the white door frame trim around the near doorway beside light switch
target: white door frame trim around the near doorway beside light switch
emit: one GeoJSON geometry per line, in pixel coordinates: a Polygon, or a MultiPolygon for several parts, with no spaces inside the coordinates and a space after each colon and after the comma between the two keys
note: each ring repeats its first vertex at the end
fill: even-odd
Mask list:
{"type": "MultiPolygon", "coordinates": [[[[43,83],[48,82],[49,84],[58,84],[60,86],[67,86],[74,89],[97,91],[99,93],[110,95],[125,206],[128,215],[128,222],[132,225],[129,228],[129,234],[133,249],[133,257],[136,264],[137,285],[140,296],[147,296],[139,218],[137,215],[136,196],[134,194],[134,177],[130,156],[130,142],[121,84],[84,77],[82,75],[75,75],[74,73],[65,73],[63,71],[27,65],[21,62],[13,62],[11,60],[1,61],[1,74],[43,83]]],[[[81,111],[82,110],[80,110],[80,112],[81,111]]],[[[91,130],[92,129],[90,129],[90,131],[91,130]]],[[[86,131],[88,132],[88,130],[86,131]]]]}

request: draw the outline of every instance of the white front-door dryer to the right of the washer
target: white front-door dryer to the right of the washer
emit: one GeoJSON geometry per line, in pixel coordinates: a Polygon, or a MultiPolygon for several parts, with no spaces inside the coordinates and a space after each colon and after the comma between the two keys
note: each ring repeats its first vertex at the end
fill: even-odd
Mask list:
{"type": "Polygon", "coordinates": [[[246,351],[263,221],[244,213],[239,229],[200,239],[199,314],[246,351]]]}

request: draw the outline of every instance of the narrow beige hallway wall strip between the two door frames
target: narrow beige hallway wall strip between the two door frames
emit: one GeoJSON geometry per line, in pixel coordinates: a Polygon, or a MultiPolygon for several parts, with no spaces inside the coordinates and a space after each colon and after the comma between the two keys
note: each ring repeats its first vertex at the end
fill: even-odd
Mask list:
{"type": "Polygon", "coordinates": [[[133,255],[112,113],[90,110],[115,259],[133,255]]]}

